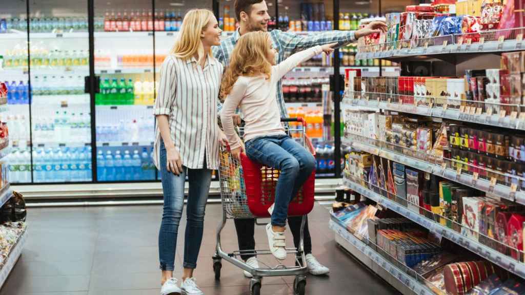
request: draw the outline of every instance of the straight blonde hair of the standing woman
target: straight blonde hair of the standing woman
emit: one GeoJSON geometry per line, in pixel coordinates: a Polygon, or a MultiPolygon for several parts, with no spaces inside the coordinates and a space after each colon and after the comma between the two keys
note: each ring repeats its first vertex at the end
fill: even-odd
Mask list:
{"type": "Polygon", "coordinates": [[[175,45],[171,49],[171,54],[187,60],[189,58],[198,56],[197,60],[202,60],[206,57],[212,57],[212,50],[204,52],[204,47],[201,41],[201,34],[208,25],[209,18],[213,17],[213,12],[208,9],[192,9],[186,13],[182,21],[181,33],[175,41],[175,45]]]}

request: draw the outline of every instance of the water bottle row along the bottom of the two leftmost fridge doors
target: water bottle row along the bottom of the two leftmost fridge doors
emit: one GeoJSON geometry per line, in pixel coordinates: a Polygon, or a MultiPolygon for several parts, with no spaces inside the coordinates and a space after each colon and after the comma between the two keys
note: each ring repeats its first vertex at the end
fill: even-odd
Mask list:
{"type": "Polygon", "coordinates": [[[91,146],[84,148],[37,148],[33,150],[31,169],[29,149],[8,155],[9,180],[13,183],[87,182],[91,181],[91,146]]]}

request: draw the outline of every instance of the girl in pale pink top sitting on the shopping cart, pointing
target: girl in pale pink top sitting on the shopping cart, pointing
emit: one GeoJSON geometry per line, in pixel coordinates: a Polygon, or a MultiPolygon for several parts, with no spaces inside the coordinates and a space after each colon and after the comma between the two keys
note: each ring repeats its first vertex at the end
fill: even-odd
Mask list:
{"type": "Polygon", "coordinates": [[[266,226],[270,250],[277,259],[286,259],[285,226],[288,204],[316,166],[312,154],[290,138],[282,127],[276,91],[278,81],[300,62],[332,46],[316,46],[290,56],[275,65],[277,51],[270,35],[256,31],[241,36],[232,52],[222,82],[224,106],[220,115],[232,154],[240,159],[246,151],[251,160],[280,170],[271,223],[266,226]],[[234,130],[233,115],[240,106],[246,127],[246,148],[234,130]]]}

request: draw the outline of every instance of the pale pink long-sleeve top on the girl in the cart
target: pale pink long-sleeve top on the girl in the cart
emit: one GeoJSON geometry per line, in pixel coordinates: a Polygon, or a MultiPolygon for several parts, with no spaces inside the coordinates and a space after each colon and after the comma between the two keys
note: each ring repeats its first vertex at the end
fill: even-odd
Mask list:
{"type": "Polygon", "coordinates": [[[245,142],[262,136],[286,134],[281,124],[281,115],[276,99],[277,83],[298,64],[321,52],[321,46],[316,46],[291,55],[279,65],[271,67],[270,79],[267,79],[265,75],[240,76],[237,79],[220,112],[220,120],[223,124],[224,133],[228,137],[230,148],[236,149],[241,145],[232,120],[239,105],[246,122],[245,142]]]}

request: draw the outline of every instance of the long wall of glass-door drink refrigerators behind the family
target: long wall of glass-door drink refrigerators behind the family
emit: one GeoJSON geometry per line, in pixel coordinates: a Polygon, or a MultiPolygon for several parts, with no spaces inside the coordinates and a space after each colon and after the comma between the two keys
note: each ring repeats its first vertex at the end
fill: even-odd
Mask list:
{"type": "MultiPolygon", "coordinates": [[[[339,2],[343,29],[353,28],[354,14],[358,19],[359,14],[379,14],[377,3],[356,3],[339,2]],[[350,25],[345,23],[347,14],[350,25]]],[[[340,24],[333,1],[267,4],[272,18],[269,29],[310,35],[334,29],[334,22],[340,24]]],[[[225,36],[236,27],[231,1],[7,4],[0,14],[5,23],[2,27],[0,21],[0,42],[5,44],[0,48],[0,79],[8,81],[10,93],[16,95],[10,100],[13,112],[3,115],[12,117],[7,121],[20,130],[12,140],[11,156],[15,163],[29,167],[15,173],[14,182],[158,179],[151,161],[155,83],[182,18],[191,8],[215,9],[225,36]]],[[[339,109],[329,87],[334,69],[344,74],[348,68],[359,68],[379,75],[373,62],[370,66],[364,62],[358,65],[355,59],[350,62],[349,50],[342,48],[338,57],[314,57],[283,80],[290,117],[307,120],[307,132],[318,154],[319,177],[333,177],[339,161],[335,150],[340,144],[334,136],[335,126],[339,126],[334,112],[339,109]]]]}

